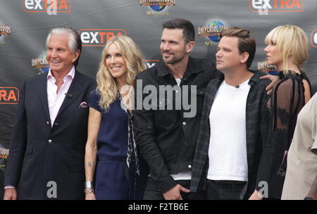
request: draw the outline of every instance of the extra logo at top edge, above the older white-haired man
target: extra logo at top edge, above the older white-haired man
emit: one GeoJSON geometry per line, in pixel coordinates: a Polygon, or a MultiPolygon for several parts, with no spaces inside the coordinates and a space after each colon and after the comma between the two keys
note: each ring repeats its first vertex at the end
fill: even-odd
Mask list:
{"type": "Polygon", "coordinates": [[[70,0],[23,0],[23,10],[27,13],[70,13],[70,0]]]}

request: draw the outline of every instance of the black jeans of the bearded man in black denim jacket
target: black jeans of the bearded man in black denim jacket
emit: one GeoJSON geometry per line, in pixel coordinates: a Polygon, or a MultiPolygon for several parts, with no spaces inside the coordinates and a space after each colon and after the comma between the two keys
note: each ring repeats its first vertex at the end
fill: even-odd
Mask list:
{"type": "MultiPolygon", "coordinates": [[[[190,189],[190,180],[176,180],[178,184],[186,189],[190,189]]],[[[183,200],[206,200],[206,191],[183,192],[180,191],[183,200]]],[[[164,200],[163,192],[159,191],[156,182],[149,177],[147,187],[144,192],[144,200],[164,200]]]]}

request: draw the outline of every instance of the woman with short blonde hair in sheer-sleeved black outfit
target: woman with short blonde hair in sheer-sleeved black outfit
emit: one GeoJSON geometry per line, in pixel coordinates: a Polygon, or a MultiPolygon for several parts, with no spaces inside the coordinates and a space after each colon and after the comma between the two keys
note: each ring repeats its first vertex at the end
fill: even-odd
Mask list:
{"type": "MultiPolygon", "coordinates": [[[[276,65],[280,81],[273,87],[271,97],[263,106],[261,124],[263,151],[256,184],[250,199],[263,199],[259,191],[267,182],[268,199],[280,199],[287,169],[287,151],[290,149],[297,115],[311,98],[309,79],[302,71],[308,57],[308,39],[295,25],[281,25],[268,33],[265,39],[268,64],[276,65]]],[[[264,195],[266,196],[266,195],[264,195]]]]}

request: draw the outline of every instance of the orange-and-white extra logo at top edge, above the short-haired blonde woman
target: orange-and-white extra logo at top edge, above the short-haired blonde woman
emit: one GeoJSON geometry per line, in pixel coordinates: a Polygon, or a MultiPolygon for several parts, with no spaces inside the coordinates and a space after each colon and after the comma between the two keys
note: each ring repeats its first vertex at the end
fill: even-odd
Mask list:
{"type": "Polygon", "coordinates": [[[249,0],[252,12],[296,12],[303,11],[304,0],[249,0]]]}

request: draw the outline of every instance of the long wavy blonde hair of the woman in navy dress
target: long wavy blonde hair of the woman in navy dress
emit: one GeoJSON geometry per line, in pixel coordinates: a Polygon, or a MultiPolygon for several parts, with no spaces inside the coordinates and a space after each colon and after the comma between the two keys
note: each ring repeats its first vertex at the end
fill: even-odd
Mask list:
{"type": "Polygon", "coordinates": [[[125,75],[127,84],[134,87],[136,75],[145,69],[142,53],[137,44],[135,44],[130,37],[120,35],[108,40],[101,53],[101,61],[99,63],[99,70],[96,78],[97,90],[101,95],[99,106],[105,111],[108,111],[110,104],[116,100],[118,92],[116,80],[112,77],[106,67],[106,54],[111,44],[116,44],[123,56],[123,60],[128,69],[125,75]]]}

